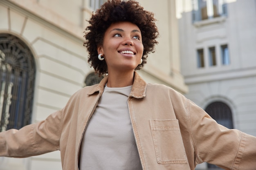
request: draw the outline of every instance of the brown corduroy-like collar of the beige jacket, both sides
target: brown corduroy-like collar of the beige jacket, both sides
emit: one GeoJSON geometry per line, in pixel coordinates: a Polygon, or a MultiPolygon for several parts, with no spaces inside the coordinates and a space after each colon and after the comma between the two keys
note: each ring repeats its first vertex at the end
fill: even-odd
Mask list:
{"type": "MultiPolygon", "coordinates": [[[[99,93],[102,94],[103,91],[104,91],[104,87],[105,87],[107,82],[108,82],[108,76],[104,77],[101,80],[101,82],[97,86],[95,86],[95,88],[93,88],[92,91],[90,91],[88,93],[88,95],[92,95],[92,94],[94,94],[96,92],[99,92],[99,93]]],[[[147,83],[135,71],[134,72],[134,80],[133,80],[132,90],[131,90],[130,96],[138,98],[138,99],[145,97],[146,96],[146,86],[147,86],[147,83]]]]}

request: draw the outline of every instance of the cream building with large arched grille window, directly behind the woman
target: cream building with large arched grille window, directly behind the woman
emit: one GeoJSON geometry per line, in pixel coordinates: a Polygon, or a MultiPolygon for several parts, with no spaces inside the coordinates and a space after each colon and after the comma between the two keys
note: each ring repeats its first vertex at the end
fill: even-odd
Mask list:
{"type": "MultiPolygon", "coordinates": [[[[83,31],[103,1],[0,0],[0,131],[43,120],[80,88],[99,82],[87,63],[83,31]]],[[[139,74],[147,82],[186,93],[175,0],[139,2],[156,13],[161,35],[156,53],[139,74]]],[[[0,170],[45,169],[61,170],[59,151],[24,159],[0,157],[0,170]]]]}

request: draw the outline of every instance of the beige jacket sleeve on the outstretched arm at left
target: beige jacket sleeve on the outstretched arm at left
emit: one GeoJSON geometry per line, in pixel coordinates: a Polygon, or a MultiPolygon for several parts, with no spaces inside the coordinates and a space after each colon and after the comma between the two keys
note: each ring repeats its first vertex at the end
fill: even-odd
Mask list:
{"type": "Polygon", "coordinates": [[[0,156],[29,157],[59,150],[62,111],[20,130],[0,133],[0,156]]]}

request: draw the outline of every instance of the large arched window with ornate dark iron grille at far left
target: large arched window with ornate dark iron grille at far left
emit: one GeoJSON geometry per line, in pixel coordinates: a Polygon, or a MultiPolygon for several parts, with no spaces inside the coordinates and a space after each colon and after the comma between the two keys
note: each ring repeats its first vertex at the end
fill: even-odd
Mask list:
{"type": "Polygon", "coordinates": [[[19,38],[0,34],[0,132],[30,124],[35,62],[19,38]]]}

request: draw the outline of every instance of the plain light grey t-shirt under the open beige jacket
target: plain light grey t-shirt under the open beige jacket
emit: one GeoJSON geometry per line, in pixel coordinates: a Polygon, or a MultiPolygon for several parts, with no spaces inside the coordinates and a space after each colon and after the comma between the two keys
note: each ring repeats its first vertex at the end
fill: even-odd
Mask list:
{"type": "Polygon", "coordinates": [[[131,88],[105,87],[83,136],[79,170],[142,170],[127,104],[131,88]]]}

